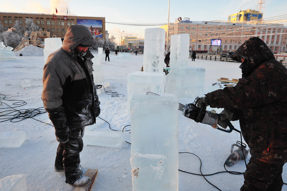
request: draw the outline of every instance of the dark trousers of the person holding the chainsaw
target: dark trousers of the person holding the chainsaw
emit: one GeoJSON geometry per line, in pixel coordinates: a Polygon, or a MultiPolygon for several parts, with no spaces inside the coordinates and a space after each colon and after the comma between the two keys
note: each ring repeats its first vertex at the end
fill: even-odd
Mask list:
{"type": "MultiPolygon", "coordinates": [[[[283,164],[284,165],[284,164],[283,164]]],[[[280,191],[282,190],[283,165],[268,164],[253,157],[244,173],[244,185],[241,191],[280,191]]]]}

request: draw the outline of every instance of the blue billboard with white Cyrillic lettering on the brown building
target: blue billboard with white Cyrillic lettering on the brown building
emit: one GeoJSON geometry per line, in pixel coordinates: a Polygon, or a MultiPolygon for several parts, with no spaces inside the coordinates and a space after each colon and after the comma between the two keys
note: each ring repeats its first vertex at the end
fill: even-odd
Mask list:
{"type": "Polygon", "coordinates": [[[77,19],[77,24],[82,24],[91,31],[95,37],[103,37],[103,25],[102,20],[90,20],[90,19],[77,19]]]}

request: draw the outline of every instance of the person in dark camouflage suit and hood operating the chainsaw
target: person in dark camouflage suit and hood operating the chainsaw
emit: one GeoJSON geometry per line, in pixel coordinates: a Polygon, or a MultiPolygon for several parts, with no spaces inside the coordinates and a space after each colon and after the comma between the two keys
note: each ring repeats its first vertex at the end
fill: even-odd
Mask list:
{"type": "Polygon", "coordinates": [[[234,87],[200,98],[198,106],[224,108],[218,120],[223,128],[227,124],[221,120],[239,120],[251,154],[241,191],[279,191],[287,162],[287,69],[257,37],[249,38],[230,58],[242,62],[242,78],[234,87]]]}

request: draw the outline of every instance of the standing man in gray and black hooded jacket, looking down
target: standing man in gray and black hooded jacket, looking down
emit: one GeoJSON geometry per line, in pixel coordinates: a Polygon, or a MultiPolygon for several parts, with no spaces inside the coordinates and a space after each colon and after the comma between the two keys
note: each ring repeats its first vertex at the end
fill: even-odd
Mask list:
{"type": "Polygon", "coordinates": [[[55,171],[65,171],[65,182],[72,186],[91,181],[83,175],[79,153],[85,126],[94,124],[100,114],[92,74],[94,56],[89,51],[95,43],[86,26],[69,26],[63,47],[50,54],[44,65],[42,100],[60,142],[55,171]]]}

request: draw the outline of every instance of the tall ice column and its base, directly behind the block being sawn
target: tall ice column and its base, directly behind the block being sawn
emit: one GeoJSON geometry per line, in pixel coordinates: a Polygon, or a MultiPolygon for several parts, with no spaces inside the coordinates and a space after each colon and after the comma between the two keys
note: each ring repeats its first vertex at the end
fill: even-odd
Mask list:
{"type": "Polygon", "coordinates": [[[130,101],[134,93],[164,93],[164,43],[163,28],[145,30],[144,72],[133,72],[127,78],[128,113],[131,113],[130,101]]]}

